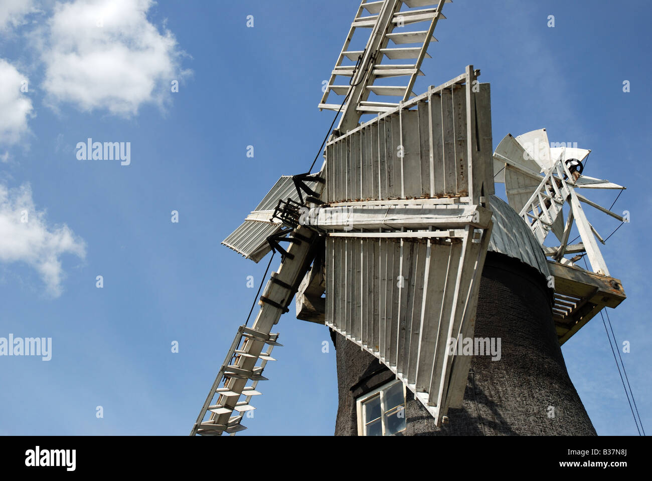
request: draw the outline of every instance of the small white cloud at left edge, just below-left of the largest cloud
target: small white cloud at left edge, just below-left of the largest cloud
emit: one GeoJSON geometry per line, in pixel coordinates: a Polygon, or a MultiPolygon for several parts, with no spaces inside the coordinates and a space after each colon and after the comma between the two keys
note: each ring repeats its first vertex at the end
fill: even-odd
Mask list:
{"type": "MultiPolygon", "coordinates": [[[[17,143],[28,130],[27,117],[32,111],[32,101],[21,92],[24,81],[27,77],[0,59],[0,143],[17,143]]],[[[25,85],[29,88],[29,84],[25,85]]]]}

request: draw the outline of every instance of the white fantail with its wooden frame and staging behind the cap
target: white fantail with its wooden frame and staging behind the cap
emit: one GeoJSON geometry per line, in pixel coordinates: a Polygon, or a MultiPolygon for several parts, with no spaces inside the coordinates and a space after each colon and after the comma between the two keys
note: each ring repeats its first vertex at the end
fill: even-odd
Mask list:
{"type": "Polygon", "coordinates": [[[590,150],[550,145],[544,128],[516,138],[508,134],[494,152],[494,177],[496,182],[505,183],[509,205],[527,223],[553,261],[550,267],[556,290],[554,321],[560,342],[564,343],[602,308],[614,308],[625,299],[621,282],[610,277],[600,252],[598,242],[604,244],[605,240],[587,219],[582,204],[621,222],[625,219],[577,190],[624,190],[625,187],[584,174],[590,150]],[[569,245],[574,226],[582,242],[569,245]],[[558,242],[546,246],[544,242],[552,237],[548,235],[551,232],[558,242]],[[571,254],[579,255],[565,257],[571,254]],[[591,270],[575,263],[584,255],[591,270]]]}

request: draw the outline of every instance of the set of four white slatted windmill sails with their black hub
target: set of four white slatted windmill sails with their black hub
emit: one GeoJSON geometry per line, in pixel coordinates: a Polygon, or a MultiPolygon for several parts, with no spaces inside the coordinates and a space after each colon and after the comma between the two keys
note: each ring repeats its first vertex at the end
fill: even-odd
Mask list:
{"type": "MultiPolygon", "coordinates": [[[[438,422],[460,398],[463,386],[454,380],[466,379],[468,364],[447,356],[446,347],[451,336],[473,328],[477,273],[492,225],[486,201],[493,186],[491,122],[488,85],[477,82],[472,66],[410,99],[445,3],[361,2],[319,104],[334,109],[324,103],[328,93],[346,94],[325,167],[316,175],[282,177],[224,240],[254,261],[274,249],[282,262],[260,297],[254,324],[238,329],[192,435],[244,429],[243,413],[253,409],[250,400],[259,394],[265,364],[279,345],[271,329],[287,312],[324,241],[325,323],[394,370],[438,422]],[[424,23],[426,29],[404,28],[424,23]],[[356,29],[371,31],[362,51],[349,50],[356,29]],[[389,47],[390,40],[398,47],[389,47]],[[415,43],[419,46],[403,46],[415,43]],[[342,65],[345,57],[356,64],[342,65]],[[348,85],[334,83],[340,76],[349,78],[348,85]],[[380,85],[396,77],[407,85],[380,85]],[[399,100],[375,102],[371,93],[399,100]],[[364,113],[379,115],[358,126],[364,113]],[[306,210],[308,222],[301,225],[306,210]],[[289,242],[288,248],[281,242],[289,242]],[[369,296],[362,277],[354,282],[361,269],[378,289],[369,296]],[[403,275],[408,269],[418,277],[403,275]],[[436,305],[446,308],[427,312],[436,305]]],[[[313,278],[317,270],[310,269],[313,278]]]]}

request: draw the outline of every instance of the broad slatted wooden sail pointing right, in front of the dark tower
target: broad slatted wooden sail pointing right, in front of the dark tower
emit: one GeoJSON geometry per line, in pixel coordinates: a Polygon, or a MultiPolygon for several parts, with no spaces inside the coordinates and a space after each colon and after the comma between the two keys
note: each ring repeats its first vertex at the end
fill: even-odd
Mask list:
{"type": "Polygon", "coordinates": [[[491,231],[488,85],[466,74],[326,148],[326,325],[366,349],[439,424],[462,401],[491,231]],[[483,139],[479,142],[478,139],[483,139]]]}

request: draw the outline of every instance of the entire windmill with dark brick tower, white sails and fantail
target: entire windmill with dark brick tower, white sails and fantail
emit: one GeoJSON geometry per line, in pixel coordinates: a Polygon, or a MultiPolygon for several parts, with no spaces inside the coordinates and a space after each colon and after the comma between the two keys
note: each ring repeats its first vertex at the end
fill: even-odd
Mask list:
{"type": "Polygon", "coordinates": [[[585,175],[590,151],[546,129],[494,151],[490,84],[471,65],[413,92],[447,3],[357,8],[319,102],[339,118],[323,163],[282,176],[222,242],[280,265],[191,435],[246,429],[293,300],[336,347],[336,435],[595,435],[560,346],[625,299],[582,206],[623,218],[580,193],[624,187],[585,175]]]}

